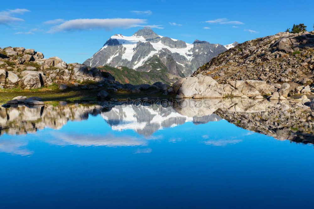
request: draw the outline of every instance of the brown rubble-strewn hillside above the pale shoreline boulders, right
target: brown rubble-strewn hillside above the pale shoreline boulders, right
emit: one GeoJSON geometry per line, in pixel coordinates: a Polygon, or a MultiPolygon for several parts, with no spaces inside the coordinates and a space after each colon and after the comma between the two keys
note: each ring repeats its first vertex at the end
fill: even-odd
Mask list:
{"type": "Polygon", "coordinates": [[[199,67],[193,76],[201,73],[219,83],[230,80],[313,83],[313,70],[314,31],[281,32],[239,44],[199,67]]]}

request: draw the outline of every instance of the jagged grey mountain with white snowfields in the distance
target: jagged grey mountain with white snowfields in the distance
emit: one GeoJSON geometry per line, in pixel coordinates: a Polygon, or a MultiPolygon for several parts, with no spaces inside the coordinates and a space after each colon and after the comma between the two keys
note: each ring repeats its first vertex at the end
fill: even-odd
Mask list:
{"type": "Polygon", "coordinates": [[[157,35],[149,27],[132,36],[116,34],[106,41],[84,64],[87,66],[125,66],[137,71],[164,70],[176,76],[188,76],[214,56],[226,51],[225,46],[195,40],[188,44],[157,35]]]}

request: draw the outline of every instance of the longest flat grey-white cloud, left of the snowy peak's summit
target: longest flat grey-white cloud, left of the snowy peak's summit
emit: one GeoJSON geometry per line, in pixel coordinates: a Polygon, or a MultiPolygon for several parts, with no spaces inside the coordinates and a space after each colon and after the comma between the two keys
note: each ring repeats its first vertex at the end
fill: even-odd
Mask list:
{"type": "MultiPolygon", "coordinates": [[[[146,19],[73,19],[65,21],[64,23],[52,27],[48,33],[56,33],[61,31],[79,31],[92,29],[111,30],[113,28],[132,28],[145,24],[146,19]]],[[[158,28],[160,25],[151,25],[149,27],[158,28]]]]}

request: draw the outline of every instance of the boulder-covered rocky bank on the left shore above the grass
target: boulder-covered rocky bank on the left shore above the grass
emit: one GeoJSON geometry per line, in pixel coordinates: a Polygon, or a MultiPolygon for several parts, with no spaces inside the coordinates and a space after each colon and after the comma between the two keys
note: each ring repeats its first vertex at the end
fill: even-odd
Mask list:
{"type": "Polygon", "coordinates": [[[34,89],[53,82],[66,84],[84,81],[115,80],[108,72],[88,69],[78,63],[67,64],[54,56],[44,58],[41,52],[22,47],[0,49],[0,88],[34,89]]]}

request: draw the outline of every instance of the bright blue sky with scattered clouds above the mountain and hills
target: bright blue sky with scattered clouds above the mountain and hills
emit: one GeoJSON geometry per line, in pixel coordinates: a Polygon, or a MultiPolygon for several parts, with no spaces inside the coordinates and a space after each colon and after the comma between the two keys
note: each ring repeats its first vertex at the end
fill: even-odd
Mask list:
{"type": "MultiPolygon", "coordinates": [[[[302,5],[313,8],[314,1],[302,5]]],[[[226,45],[273,35],[294,23],[313,30],[314,13],[306,8],[300,12],[289,0],[4,1],[0,47],[31,48],[46,58],[82,63],[111,35],[130,36],[145,25],[187,43],[198,39],[226,45]]]]}

